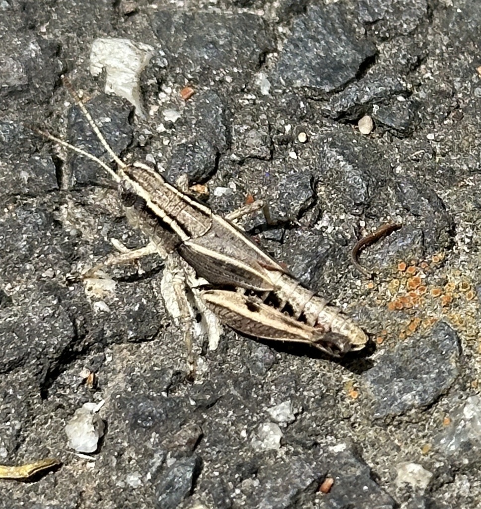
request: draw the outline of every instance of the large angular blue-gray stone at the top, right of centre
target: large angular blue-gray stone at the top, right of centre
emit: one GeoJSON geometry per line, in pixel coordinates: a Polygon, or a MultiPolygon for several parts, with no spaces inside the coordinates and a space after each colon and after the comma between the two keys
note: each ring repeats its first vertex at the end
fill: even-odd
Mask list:
{"type": "Polygon", "coordinates": [[[356,38],[355,23],[342,4],[310,6],[298,16],[272,74],[276,84],[333,92],[355,78],[376,53],[367,39],[356,38]]]}

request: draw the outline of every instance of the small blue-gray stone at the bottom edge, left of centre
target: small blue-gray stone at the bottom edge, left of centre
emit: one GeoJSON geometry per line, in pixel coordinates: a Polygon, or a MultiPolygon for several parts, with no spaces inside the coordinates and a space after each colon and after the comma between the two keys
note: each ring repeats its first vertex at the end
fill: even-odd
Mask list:
{"type": "Polygon", "coordinates": [[[179,503],[192,493],[202,468],[198,456],[177,460],[154,482],[155,507],[157,509],[175,509],[179,503]]]}

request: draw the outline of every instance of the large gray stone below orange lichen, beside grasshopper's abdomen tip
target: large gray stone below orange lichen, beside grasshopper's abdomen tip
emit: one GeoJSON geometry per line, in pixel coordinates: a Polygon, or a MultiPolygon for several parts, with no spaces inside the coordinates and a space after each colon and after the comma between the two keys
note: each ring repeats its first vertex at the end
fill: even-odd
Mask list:
{"type": "Polygon", "coordinates": [[[375,400],[375,416],[431,405],[456,380],[460,353],[458,335],[444,322],[429,336],[412,337],[385,352],[364,375],[375,400]]]}

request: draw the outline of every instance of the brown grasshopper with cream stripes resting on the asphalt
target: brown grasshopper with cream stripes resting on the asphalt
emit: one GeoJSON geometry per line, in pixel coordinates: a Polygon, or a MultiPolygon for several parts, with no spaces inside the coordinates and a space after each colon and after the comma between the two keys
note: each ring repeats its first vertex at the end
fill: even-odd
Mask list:
{"type": "MultiPolygon", "coordinates": [[[[333,356],[364,348],[368,337],[339,309],[303,287],[233,222],[172,186],[152,167],[128,165],[109,147],[84,103],[66,88],[117,165],[117,172],[82,149],[45,131],[37,133],[95,160],[118,183],[129,221],[151,239],[107,264],[176,252],[206,285],[199,295],[233,329],[259,338],[312,345],[333,356]]],[[[95,269],[94,269],[95,270],[95,269]]]]}

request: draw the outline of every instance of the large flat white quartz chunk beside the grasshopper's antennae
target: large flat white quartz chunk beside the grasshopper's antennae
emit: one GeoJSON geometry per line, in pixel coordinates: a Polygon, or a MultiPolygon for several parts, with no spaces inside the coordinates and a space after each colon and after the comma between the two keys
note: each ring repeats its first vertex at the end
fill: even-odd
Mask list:
{"type": "Polygon", "coordinates": [[[153,54],[152,46],[129,39],[95,39],[90,52],[90,72],[98,76],[105,69],[105,93],[124,97],[144,116],[139,78],[153,54]]]}

